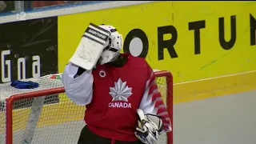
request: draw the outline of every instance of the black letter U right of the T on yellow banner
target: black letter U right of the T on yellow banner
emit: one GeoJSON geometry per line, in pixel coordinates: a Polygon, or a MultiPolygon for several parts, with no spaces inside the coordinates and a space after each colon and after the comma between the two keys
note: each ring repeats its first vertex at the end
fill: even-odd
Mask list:
{"type": "Polygon", "coordinates": [[[230,18],[231,22],[231,38],[230,41],[225,40],[225,28],[224,28],[224,17],[218,18],[218,39],[220,42],[220,45],[224,50],[230,50],[235,43],[235,40],[237,38],[237,31],[236,31],[236,16],[232,15],[230,18]]]}

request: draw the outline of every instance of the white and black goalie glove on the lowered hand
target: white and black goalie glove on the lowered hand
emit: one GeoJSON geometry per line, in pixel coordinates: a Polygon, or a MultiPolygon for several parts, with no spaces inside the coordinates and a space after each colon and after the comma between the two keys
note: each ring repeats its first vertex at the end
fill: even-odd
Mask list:
{"type": "Polygon", "coordinates": [[[143,111],[137,110],[140,121],[134,132],[135,136],[145,144],[156,144],[158,136],[162,130],[162,120],[156,115],[146,114],[143,111]]]}

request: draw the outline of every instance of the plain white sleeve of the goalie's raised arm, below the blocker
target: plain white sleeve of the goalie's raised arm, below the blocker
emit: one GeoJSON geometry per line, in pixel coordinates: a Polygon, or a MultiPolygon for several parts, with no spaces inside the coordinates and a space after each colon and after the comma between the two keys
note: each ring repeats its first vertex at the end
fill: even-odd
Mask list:
{"type": "Polygon", "coordinates": [[[94,77],[91,70],[78,75],[78,66],[69,63],[62,74],[66,95],[78,105],[88,105],[93,97],[94,77]]]}

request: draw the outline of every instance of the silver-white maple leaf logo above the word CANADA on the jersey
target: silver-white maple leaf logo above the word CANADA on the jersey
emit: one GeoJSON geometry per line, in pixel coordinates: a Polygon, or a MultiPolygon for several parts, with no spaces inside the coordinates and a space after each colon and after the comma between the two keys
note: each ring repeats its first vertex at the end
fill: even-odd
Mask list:
{"type": "Polygon", "coordinates": [[[110,87],[110,95],[112,96],[112,102],[114,101],[125,101],[128,102],[132,88],[126,86],[126,82],[122,82],[121,78],[118,82],[114,82],[114,87],[110,87]]]}

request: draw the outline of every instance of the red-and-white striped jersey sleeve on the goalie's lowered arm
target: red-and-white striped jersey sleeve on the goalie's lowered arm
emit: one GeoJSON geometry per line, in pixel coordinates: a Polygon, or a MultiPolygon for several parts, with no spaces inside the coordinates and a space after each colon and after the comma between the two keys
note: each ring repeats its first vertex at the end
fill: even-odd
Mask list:
{"type": "Polygon", "coordinates": [[[172,130],[170,125],[170,116],[166,110],[164,102],[162,101],[161,94],[158,91],[154,71],[149,65],[147,73],[148,80],[146,81],[146,88],[139,109],[143,110],[144,114],[154,114],[161,118],[164,132],[169,132],[172,130]]]}

